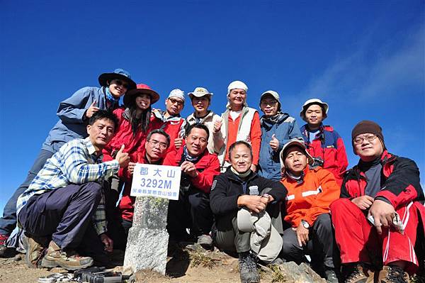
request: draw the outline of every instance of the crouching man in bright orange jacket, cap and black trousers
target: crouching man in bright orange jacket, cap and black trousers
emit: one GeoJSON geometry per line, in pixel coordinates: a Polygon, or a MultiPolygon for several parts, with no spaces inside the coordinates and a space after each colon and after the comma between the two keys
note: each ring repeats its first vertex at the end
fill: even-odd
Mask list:
{"type": "Polygon", "coordinates": [[[329,205],[339,198],[339,185],[328,170],[309,168],[313,158],[300,140],[283,145],[280,163],[281,182],[288,189],[284,224],[289,227],[283,232],[283,257],[299,264],[306,254],[311,255],[313,269],[327,282],[337,283],[329,205]]]}

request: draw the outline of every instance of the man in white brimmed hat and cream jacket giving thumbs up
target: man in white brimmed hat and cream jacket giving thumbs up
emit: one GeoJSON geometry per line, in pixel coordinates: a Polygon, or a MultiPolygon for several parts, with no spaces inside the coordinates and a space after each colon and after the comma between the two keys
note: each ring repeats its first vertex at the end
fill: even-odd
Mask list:
{"type": "Polygon", "coordinates": [[[211,104],[212,92],[203,87],[197,87],[193,92],[189,92],[188,96],[191,98],[195,111],[186,118],[186,126],[194,123],[202,123],[207,126],[211,133],[208,140],[208,151],[210,153],[220,152],[223,145],[225,145],[226,133],[224,127],[222,127],[222,118],[208,110],[211,104]]]}

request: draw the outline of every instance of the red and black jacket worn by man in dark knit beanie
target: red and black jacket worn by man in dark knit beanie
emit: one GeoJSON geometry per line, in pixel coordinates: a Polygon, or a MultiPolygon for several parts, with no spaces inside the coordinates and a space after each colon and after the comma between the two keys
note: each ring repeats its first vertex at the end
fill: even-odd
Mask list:
{"type": "MultiPolygon", "coordinates": [[[[391,155],[385,150],[382,153],[381,162],[381,189],[373,197],[384,197],[391,202],[396,210],[405,204],[409,204],[410,201],[424,200],[424,191],[419,181],[419,169],[413,160],[391,155]]],[[[365,187],[365,174],[356,165],[344,175],[341,197],[363,196],[365,187]]]]}

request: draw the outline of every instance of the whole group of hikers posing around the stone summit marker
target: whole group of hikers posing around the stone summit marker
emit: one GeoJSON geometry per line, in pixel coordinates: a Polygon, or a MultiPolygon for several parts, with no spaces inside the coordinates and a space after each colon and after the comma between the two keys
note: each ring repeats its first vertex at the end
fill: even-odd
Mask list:
{"type": "Polygon", "coordinates": [[[327,282],[408,282],[423,267],[419,169],[387,151],[377,123],[353,127],[360,159],[347,170],[344,142],[324,126],[329,106],[320,99],[302,105],[299,128],[276,91],[261,94],[260,116],[241,81],[227,87],[221,115],[209,109],[212,92],[196,87],[186,119],[181,89],[161,111],[153,108],[157,91],[125,70],[98,82],[60,103],[59,121],[4,207],[1,257],[16,226],[30,267],[79,270],[125,250],[132,174],[143,163],[181,168],[179,200],[169,201],[170,243],[239,257],[242,282],[259,282],[258,262],[299,264],[306,255],[327,282]]]}

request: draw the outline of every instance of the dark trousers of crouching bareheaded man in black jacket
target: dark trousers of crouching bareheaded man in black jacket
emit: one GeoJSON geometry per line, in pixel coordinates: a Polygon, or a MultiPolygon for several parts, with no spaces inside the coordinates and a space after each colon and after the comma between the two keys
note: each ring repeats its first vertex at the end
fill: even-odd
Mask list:
{"type": "Polygon", "coordinates": [[[237,227],[237,211],[217,218],[217,231],[212,233],[217,248],[227,253],[245,253],[251,250],[251,233],[237,227]]]}

